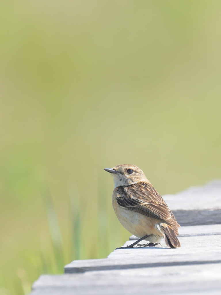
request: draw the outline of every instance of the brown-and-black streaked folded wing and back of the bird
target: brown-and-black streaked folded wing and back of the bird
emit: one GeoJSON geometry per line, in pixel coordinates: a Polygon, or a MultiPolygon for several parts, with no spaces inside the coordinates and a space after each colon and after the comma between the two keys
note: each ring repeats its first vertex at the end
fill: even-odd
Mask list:
{"type": "Polygon", "coordinates": [[[180,227],[174,214],[151,183],[138,182],[130,186],[119,186],[116,193],[119,206],[180,227]]]}

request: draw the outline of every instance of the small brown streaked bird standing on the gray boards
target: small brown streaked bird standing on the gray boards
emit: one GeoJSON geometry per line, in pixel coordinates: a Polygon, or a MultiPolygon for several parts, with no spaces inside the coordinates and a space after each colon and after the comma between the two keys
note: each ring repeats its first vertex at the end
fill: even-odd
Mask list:
{"type": "Polygon", "coordinates": [[[133,248],[141,240],[154,245],[163,237],[170,248],[180,247],[177,238],[180,225],[144,172],[130,164],[104,170],[113,175],[112,205],[117,218],[126,230],[140,238],[128,248],[133,248]]]}

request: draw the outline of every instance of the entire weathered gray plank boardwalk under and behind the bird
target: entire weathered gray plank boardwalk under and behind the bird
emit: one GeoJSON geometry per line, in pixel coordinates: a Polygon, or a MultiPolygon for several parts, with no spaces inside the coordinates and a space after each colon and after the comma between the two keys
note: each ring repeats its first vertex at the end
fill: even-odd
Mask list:
{"type": "Polygon", "coordinates": [[[116,249],[104,259],[76,260],[64,275],[41,276],[31,295],[220,295],[221,181],[163,197],[177,221],[188,225],[179,229],[181,248],[163,241],[116,249]]]}

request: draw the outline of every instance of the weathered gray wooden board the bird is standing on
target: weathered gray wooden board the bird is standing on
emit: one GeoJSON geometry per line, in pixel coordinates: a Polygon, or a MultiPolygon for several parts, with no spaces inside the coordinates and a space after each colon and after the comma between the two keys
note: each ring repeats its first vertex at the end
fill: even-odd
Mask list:
{"type": "MultiPolygon", "coordinates": [[[[116,249],[105,259],[75,260],[65,266],[65,273],[221,263],[221,235],[180,237],[179,240],[182,247],[177,249],[170,249],[162,242],[156,247],[116,249]]],[[[124,246],[131,243],[127,241],[124,246]]]]}

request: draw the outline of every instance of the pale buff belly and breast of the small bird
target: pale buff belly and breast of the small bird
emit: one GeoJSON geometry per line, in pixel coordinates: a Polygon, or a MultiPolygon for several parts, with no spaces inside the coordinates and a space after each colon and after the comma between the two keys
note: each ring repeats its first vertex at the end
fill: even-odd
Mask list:
{"type": "Polygon", "coordinates": [[[114,196],[112,204],[118,220],[132,235],[139,238],[150,235],[145,240],[155,243],[159,243],[162,240],[164,233],[159,227],[159,220],[120,207],[114,196]]]}

